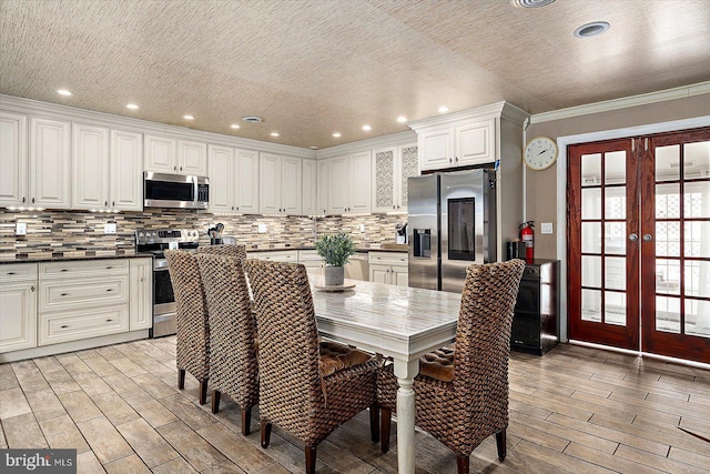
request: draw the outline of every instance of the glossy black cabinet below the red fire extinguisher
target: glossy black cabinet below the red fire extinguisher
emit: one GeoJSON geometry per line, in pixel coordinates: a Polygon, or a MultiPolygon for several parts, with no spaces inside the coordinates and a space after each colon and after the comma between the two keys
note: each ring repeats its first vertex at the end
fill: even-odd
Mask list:
{"type": "Polygon", "coordinates": [[[559,261],[525,265],[515,304],[510,349],[542,355],[559,340],[559,261]]]}

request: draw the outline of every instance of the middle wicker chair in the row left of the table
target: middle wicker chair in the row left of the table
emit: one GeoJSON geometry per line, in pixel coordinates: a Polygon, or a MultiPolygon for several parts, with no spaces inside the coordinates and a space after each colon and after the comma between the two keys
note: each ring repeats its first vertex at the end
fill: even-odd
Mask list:
{"type": "MultiPolygon", "coordinates": [[[[242,254],[245,254],[242,246],[242,254]]],[[[256,320],[252,313],[243,258],[202,253],[197,256],[210,317],[212,413],[224,393],[242,411],[242,434],[251,432],[252,407],[258,400],[256,320]]]]}

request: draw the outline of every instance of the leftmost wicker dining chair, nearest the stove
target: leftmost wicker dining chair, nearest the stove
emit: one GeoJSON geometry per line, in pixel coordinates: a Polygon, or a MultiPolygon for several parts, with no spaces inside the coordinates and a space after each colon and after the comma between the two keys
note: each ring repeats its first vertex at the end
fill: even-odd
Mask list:
{"type": "Polygon", "coordinates": [[[185,387],[185,371],[200,382],[200,404],[207,401],[210,379],[210,321],[196,255],[166,250],[168,271],[176,305],[178,389],[185,387]]]}

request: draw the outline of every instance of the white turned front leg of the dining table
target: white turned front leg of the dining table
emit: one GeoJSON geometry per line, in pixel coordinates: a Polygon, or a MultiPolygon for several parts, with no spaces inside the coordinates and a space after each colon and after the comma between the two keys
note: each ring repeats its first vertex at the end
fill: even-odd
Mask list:
{"type": "Polygon", "coordinates": [[[414,377],[419,372],[419,361],[397,361],[395,359],[397,390],[397,472],[414,474],[414,377]]]}

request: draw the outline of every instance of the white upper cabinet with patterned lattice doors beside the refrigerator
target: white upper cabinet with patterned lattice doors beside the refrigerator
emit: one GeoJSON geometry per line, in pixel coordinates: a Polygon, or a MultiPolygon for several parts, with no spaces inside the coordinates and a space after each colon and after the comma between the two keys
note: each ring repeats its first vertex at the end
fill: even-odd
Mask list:
{"type": "Polygon", "coordinates": [[[373,212],[406,212],[407,178],[419,174],[417,144],[373,151],[373,212]]]}

